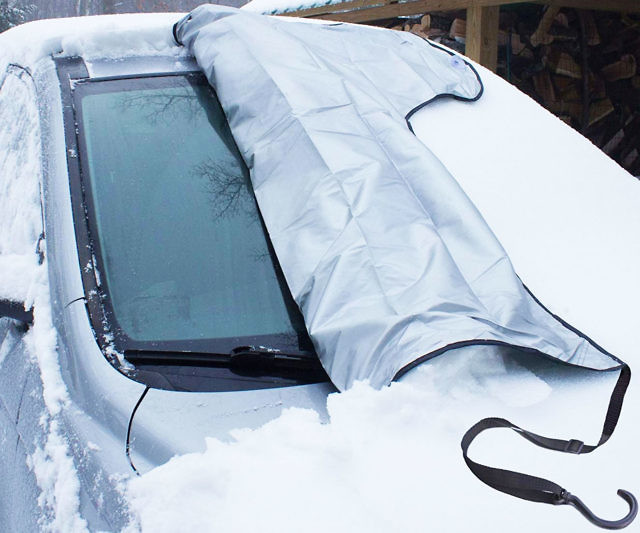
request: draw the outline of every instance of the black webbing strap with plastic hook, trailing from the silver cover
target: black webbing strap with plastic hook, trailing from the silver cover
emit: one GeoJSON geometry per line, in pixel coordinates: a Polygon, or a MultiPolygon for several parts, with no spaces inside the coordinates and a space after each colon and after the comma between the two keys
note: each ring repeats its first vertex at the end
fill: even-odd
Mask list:
{"type": "MultiPolygon", "coordinates": [[[[622,410],[624,395],[627,391],[627,387],[629,386],[630,381],[631,369],[626,364],[623,364],[620,376],[618,377],[616,386],[614,387],[611,394],[611,399],[609,400],[609,408],[607,409],[607,416],[602,428],[602,435],[600,436],[600,441],[596,445],[584,444],[582,441],[575,439],[562,440],[543,437],[541,435],[536,435],[535,433],[522,429],[515,424],[512,424],[508,420],[505,420],[504,418],[485,418],[484,420],[481,420],[473,427],[471,427],[462,438],[461,446],[464,460],[467,463],[469,469],[475,474],[478,479],[480,479],[480,481],[486,483],[496,490],[511,494],[512,496],[516,496],[517,498],[522,498],[524,500],[550,503],[555,505],[571,504],[578,507],[575,504],[575,500],[578,499],[568,493],[557,483],[554,483],[553,481],[549,481],[547,479],[530,476],[528,474],[522,474],[520,472],[502,470],[500,468],[493,468],[490,466],[482,465],[480,463],[476,463],[469,458],[469,456],[467,455],[467,450],[473,442],[473,439],[475,439],[484,430],[491,428],[509,428],[516,431],[520,436],[524,437],[528,441],[533,442],[536,446],[540,446],[548,450],[556,450],[559,452],[574,454],[590,453],[607,442],[607,440],[609,440],[609,437],[611,437],[613,431],[615,430],[616,424],[618,423],[618,418],[620,417],[620,411],[622,410]]],[[[633,498],[632,495],[631,497],[633,498]]],[[[633,498],[633,500],[635,502],[635,498],[633,498]]],[[[637,506],[637,503],[635,505],[637,506]]],[[[578,510],[583,512],[583,510],[580,508],[578,510]]],[[[583,512],[583,514],[585,513],[583,512]]],[[[633,517],[635,517],[635,513],[629,513],[623,525],[623,521],[614,523],[600,520],[601,523],[597,523],[596,521],[592,520],[592,522],[596,523],[596,525],[600,525],[601,527],[611,527],[611,524],[617,524],[617,526],[615,526],[616,528],[625,527],[626,525],[631,523],[631,520],[633,520],[633,517],[631,517],[631,519],[629,520],[631,514],[633,514],[633,517]]],[[[589,519],[591,520],[591,518],[589,519]]]]}

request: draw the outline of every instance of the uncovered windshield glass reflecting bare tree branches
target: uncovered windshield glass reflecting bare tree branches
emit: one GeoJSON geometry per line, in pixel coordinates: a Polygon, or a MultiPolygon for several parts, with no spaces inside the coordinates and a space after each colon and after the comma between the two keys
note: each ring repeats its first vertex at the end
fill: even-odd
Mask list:
{"type": "Polygon", "coordinates": [[[218,350],[261,340],[310,348],[206,80],[93,82],[76,93],[85,201],[120,333],[136,343],[226,339],[218,350]]]}

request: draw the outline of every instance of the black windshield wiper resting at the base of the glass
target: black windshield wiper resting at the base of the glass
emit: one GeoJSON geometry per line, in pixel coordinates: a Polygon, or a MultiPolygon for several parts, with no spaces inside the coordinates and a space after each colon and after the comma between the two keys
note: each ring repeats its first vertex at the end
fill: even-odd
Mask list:
{"type": "Polygon", "coordinates": [[[254,346],[239,346],[227,354],[179,350],[125,350],[124,356],[136,367],[213,366],[227,368],[241,376],[291,375],[295,378],[326,378],[317,357],[254,346]]]}

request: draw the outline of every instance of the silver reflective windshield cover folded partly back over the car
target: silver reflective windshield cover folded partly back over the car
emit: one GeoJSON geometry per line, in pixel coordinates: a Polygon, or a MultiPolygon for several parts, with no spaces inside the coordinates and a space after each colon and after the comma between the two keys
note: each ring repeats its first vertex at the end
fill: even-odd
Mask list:
{"type": "MultiPolygon", "coordinates": [[[[406,32],[202,6],[175,28],[251,171],[291,293],[333,383],[381,387],[446,349],[507,344],[619,368],[524,288],[500,243],[411,132],[476,72],[406,32]]],[[[472,104],[469,104],[472,105],[472,104]]]]}

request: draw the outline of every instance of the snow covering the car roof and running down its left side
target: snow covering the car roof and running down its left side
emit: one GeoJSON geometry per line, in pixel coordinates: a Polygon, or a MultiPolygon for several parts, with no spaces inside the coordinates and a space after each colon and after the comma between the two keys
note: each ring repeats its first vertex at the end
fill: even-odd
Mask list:
{"type": "Polygon", "coordinates": [[[39,523],[44,531],[81,532],[87,530],[80,516],[80,483],[69,444],[60,426],[64,409],[72,408],[62,379],[57,356],[57,333],[49,304],[47,262],[38,264],[35,253],[42,229],[40,214],[40,166],[32,157],[40,151],[37,109],[32,93],[11,90],[21,83],[16,76],[33,69],[51,54],[119,58],[127,55],[179,56],[171,25],[179,14],[103,16],[82,19],[36,21],[0,35],[0,84],[5,94],[19,95],[0,102],[0,298],[24,301],[34,307],[34,324],[25,338],[32,358],[40,370],[46,412],[40,418],[46,441],[35,443],[27,458],[42,491],[39,497],[39,523]],[[37,38],[34,36],[37,35],[37,38]],[[105,50],[109,53],[105,54],[105,50]],[[25,110],[27,111],[25,113],[25,110]],[[21,128],[21,129],[20,129],[21,128]],[[13,146],[15,132],[22,131],[22,143],[13,146]],[[9,148],[8,150],[6,148],[9,148]]]}

